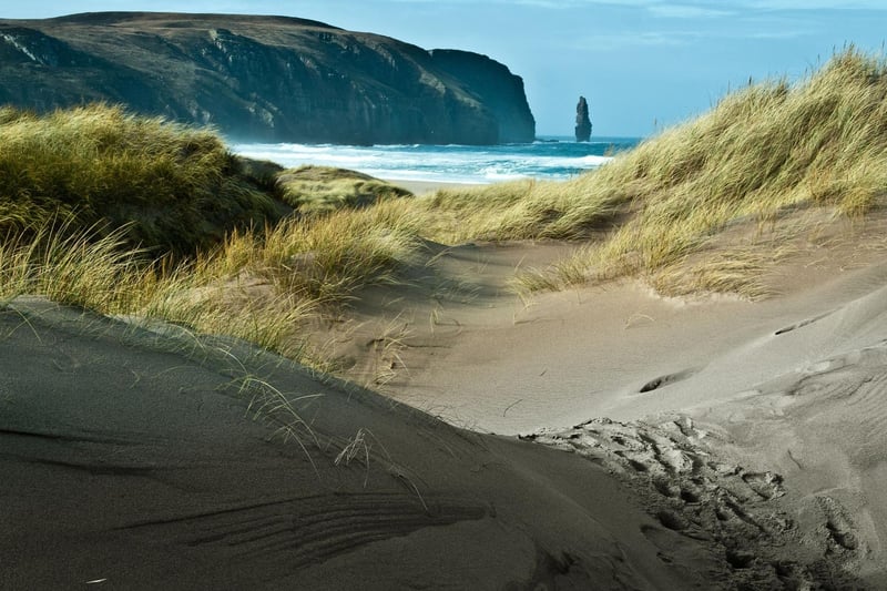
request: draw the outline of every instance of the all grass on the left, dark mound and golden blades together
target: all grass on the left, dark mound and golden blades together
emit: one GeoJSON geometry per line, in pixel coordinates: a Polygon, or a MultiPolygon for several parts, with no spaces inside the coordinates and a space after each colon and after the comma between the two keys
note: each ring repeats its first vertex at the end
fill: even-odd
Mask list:
{"type": "Polygon", "coordinates": [[[397,281],[419,246],[402,203],[299,215],[281,167],[116,108],[0,109],[0,302],[160,318],[314,366],[305,323],[397,281]]]}

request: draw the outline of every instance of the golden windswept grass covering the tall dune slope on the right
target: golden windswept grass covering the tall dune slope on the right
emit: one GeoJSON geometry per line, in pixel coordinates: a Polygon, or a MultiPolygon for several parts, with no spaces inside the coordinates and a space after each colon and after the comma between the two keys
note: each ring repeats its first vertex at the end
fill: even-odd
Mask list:
{"type": "MultiPolygon", "coordinates": [[[[849,48],[795,84],[774,80],[731,93],[711,112],[570,182],[440,192],[426,206],[461,221],[456,237],[608,233],[549,276],[521,281],[551,287],[676,272],[731,225],[763,228],[806,207],[860,217],[886,195],[887,64],[849,48]]],[[[675,293],[701,285],[757,289],[758,266],[722,261],[717,267],[710,262],[711,281],[695,287],[660,285],[675,293]]]]}

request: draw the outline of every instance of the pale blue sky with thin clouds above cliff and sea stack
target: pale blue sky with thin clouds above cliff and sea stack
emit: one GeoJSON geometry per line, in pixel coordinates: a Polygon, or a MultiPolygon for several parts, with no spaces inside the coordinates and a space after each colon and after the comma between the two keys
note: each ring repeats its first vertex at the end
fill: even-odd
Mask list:
{"type": "Polygon", "coordinates": [[[483,53],[523,78],[538,135],[646,136],[755,81],[798,80],[847,44],[885,53],[885,0],[4,0],[0,18],[103,10],[282,14],[425,49],[483,53]]]}

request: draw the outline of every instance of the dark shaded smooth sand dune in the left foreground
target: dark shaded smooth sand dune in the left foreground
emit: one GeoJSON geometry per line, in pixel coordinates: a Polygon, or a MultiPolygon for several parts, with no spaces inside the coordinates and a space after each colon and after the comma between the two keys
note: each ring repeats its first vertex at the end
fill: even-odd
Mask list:
{"type": "Polygon", "coordinates": [[[711,554],[705,573],[663,561],[650,539],[669,531],[578,456],[459,430],[174,327],[42,300],[14,302],[0,326],[4,589],[654,589],[731,577],[707,542],[684,542],[711,554]],[[304,424],[272,409],[278,391],[304,424]]]}

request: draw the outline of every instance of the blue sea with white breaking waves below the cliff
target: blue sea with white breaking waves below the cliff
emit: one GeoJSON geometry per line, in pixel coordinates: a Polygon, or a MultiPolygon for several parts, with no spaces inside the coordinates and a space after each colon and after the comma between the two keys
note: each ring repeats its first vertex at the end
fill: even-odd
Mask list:
{"type": "Polygon", "coordinates": [[[244,156],[285,167],[314,164],[359,171],[391,181],[487,184],[514,179],[564,180],[597,169],[613,154],[638,145],[640,137],[541,136],[533,143],[504,145],[306,145],[233,144],[244,156]]]}

